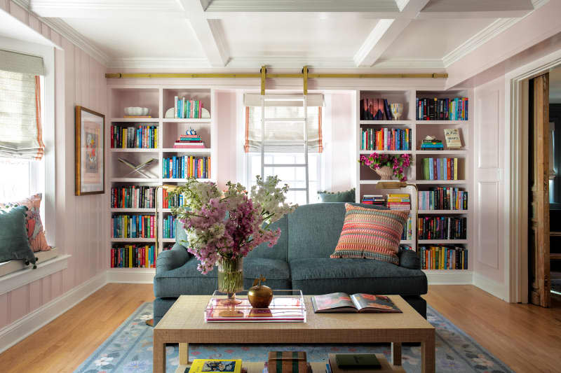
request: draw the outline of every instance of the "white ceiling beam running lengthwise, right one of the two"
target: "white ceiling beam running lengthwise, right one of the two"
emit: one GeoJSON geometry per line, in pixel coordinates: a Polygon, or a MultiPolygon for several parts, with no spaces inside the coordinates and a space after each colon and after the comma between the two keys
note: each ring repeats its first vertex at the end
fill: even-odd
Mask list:
{"type": "Polygon", "coordinates": [[[353,59],[356,66],[372,66],[391,47],[428,0],[400,0],[400,15],[395,19],[379,20],[353,59]]]}

